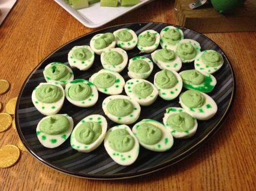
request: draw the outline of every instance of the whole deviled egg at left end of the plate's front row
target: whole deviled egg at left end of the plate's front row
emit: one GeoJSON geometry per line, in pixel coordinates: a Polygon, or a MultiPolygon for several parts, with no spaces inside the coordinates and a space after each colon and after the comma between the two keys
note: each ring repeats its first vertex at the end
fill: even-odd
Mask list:
{"type": "Polygon", "coordinates": [[[68,114],[47,116],[37,125],[37,138],[44,147],[55,148],[69,138],[73,126],[73,119],[68,114]]]}

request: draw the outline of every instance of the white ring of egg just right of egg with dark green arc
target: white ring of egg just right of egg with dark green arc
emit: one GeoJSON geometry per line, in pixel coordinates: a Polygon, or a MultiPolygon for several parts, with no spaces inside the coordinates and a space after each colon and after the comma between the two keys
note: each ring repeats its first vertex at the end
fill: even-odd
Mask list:
{"type": "Polygon", "coordinates": [[[114,76],[116,76],[116,82],[113,84],[113,86],[111,86],[109,88],[99,88],[99,87],[96,86],[98,91],[100,91],[104,94],[107,94],[107,95],[117,95],[117,94],[122,93],[122,91],[124,89],[125,81],[124,81],[124,78],[120,74],[118,74],[117,72],[113,72],[109,69],[101,69],[101,70],[99,70],[99,72],[93,74],[90,77],[89,80],[92,83],[94,83],[95,77],[100,73],[111,73],[111,74],[113,74],[114,76]]]}

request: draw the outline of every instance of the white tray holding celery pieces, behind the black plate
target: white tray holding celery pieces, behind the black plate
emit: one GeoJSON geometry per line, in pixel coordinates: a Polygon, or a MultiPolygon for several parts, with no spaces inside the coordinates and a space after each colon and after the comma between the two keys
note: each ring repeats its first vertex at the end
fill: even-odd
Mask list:
{"type": "Polygon", "coordinates": [[[66,4],[63,0],[54,0],[60,6],[62,6],[66,11],[68,11],[73,17],[75,17],[83,25],[96,28],[102,26],[106,23],[111,22],[111,20],[124,15],[134,9],[139,8],[147,3],[154,0],[141,0],[139,4],[134,6],[118,6],[116,8],[102,7],[99,3],[94,3],[85,9],[73,9],[72,6],[66,4]]]}

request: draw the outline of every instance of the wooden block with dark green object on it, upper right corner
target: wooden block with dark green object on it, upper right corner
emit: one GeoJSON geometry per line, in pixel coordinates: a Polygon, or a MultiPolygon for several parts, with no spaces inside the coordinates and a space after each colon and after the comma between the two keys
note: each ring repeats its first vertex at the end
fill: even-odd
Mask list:
{"type": "Polygon", "coordinates": [[[178,25],[201,33],[256,31],[255,0],[211,0],[191,9],[193,0],[176,0],[178,25]]]}

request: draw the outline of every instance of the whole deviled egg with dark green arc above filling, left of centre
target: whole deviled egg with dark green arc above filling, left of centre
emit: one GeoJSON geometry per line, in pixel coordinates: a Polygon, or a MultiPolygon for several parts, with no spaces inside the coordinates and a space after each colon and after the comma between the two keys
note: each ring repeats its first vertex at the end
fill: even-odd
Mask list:
{"type": "Polygon", "coordinates": [[[65,96],[73,105],[88,108],[98,101],[98,90],[92,82],[76,79],[66,84],[65,96]]]}

